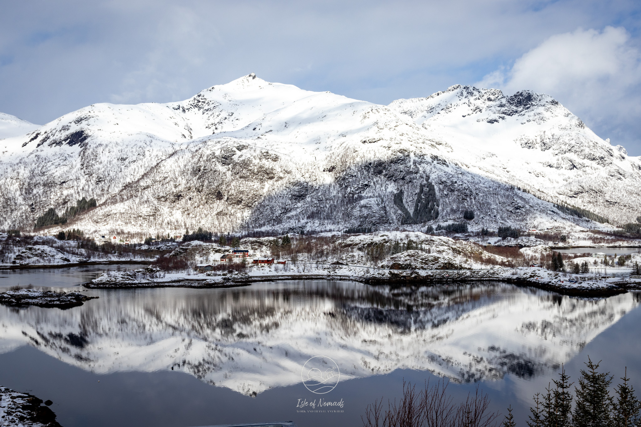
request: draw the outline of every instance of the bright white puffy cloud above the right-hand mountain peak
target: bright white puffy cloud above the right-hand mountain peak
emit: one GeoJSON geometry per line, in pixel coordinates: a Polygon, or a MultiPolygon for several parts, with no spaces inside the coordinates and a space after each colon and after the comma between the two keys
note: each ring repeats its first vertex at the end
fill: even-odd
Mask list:
{"type": "Polygon", "coordinates": [[[577,29],[551,36],[511,68],[496,70],[476,85],[506,93],[547,93],[599,136],[639,151],[641,52],[624,28],[577,29]]]}

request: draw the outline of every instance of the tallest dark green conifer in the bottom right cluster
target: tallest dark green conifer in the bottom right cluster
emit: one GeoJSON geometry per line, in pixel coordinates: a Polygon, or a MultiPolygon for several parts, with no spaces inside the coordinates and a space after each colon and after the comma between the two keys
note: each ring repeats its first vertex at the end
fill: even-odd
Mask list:
{"type": "Polygon", "coordinates": [[[587,370],[581,369],[579,387],[576,392],[574,408],[574,425],[576,427],[608,427],[612,413],[613,399],[608,392],[613,376],[610,373],[599,373],[599,364],[594,364],[590,357],[585,364],[587,370]]]}

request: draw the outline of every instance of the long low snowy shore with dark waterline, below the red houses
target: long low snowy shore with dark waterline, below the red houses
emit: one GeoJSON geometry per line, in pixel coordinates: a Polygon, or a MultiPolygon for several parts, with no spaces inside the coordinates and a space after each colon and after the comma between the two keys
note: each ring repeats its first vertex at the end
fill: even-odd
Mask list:
{"type": "Polygon", "coordinates": [[[299,263],[296,266],[261,266],[245,272],[181,271],[164,273],[147,268],[108,271],[85,287],[92,289],[122,287],[221,287],[244,286],[278,280],[353,280],[378,284],[444,284],[452,282],[497,281],[531,286],[576,296],[607,296],[641,289],[641,279],[572,275],[544,268],[485,268],[474,270],[388,270],[367,266],[299,263]]]}

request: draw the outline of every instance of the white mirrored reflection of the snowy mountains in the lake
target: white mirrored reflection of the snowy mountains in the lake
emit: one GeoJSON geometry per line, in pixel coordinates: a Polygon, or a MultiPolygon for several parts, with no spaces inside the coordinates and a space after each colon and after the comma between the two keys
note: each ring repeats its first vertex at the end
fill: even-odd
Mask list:
{"type": "Polygon", "coordinates": [[[300,382],[317,355],[342,379],[404,368],[470,382],[545,375],[639,303],[508,284],[325,281],[87,294],[100,298],[70,310],[0,306],[0,353],[28,344],[95,373],[174,367],[248,395],[300,382]]]}

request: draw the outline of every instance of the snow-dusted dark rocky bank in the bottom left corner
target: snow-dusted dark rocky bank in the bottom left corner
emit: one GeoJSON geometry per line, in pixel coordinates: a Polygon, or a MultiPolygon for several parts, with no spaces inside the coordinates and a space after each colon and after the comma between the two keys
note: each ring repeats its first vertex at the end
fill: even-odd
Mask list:
{"type": "MultiPolygon", "coordinates": [[[[61,427],[56,421],[56,414],[42,403],[42,399],[33,394],[0,387],[0,425],[61,427]]],[[[47,400],[45,405],[47,403],[51,405],[53,402],[47,400]]]]}

